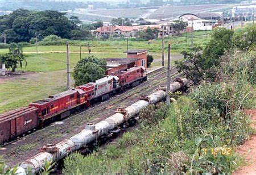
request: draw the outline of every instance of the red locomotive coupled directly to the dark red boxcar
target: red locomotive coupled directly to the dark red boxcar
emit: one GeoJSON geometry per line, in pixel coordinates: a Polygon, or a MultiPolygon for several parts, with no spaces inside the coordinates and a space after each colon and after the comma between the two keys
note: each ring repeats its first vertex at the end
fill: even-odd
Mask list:
{"type": "Polygon", "coordinates": [[[80,89],[71,89],[62,93],[51,95],[48,98],[30,103],[29,106],[38,108],[38,116],[40,121],[59,116],[63,119],[80,105],[86,103],[87,96],[80,89]]]}

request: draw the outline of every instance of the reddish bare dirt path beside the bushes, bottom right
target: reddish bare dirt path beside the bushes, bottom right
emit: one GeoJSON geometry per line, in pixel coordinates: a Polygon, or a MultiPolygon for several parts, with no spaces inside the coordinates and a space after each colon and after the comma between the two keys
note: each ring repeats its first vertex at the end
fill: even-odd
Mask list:
{"type": "MultiPolygon", "coordinates": [[[[246,110],[246,114],[251,115],[251,127],[253,130],[256,129],[256,109],[246,110]]],[[[251,136],[251,138],[243,145],[238,147],[237,152],[240,155],[245,156],[245,162],[247,165],[242,166],[233,175],[238,174],[256,174],[256,134],[251,136]]]]}

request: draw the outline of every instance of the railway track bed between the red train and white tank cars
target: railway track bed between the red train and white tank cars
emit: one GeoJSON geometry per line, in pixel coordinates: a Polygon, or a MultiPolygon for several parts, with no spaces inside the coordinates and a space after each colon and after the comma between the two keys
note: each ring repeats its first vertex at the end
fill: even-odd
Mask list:
{"type": "MultiPolygon", "coordinates": [[[[1,155],[4,156],[4,158],[7,160],[7,164],[9,165],[15,165],[16,163],[20,162],[20,159],[27,159],[30,153],[35,154],[36,152],[38,152],[39,146],[42,146],[43,144],[53,143],[53,140],[55,143],[65,138],[66,136],[74,135],[80,132],[87,122],[95,123],[103,120],[107,116],[113,114],[116,107],[119,107],[120,105],[126,106],[127,103],[137,101],[138,96],[151,93],[152,90],[155,90],[156,87],[166,81],[166,72],[167,71],[165,69],[161,69],[157,72],[151,73],[150,75],[148,75],[148,81],[143,82],[142,84],[138,85],[133,89],[127,90],[121,95],[115,95],[108,101],[96,104],[93,107],[82,111],[79,114],[69,116],[69,118],[62,120],[62,122],[64,122],[64,124],[62,125],[57,125],[56,127],[47,126],[42,130],[37,130],[32,134],[25,136],[25,138],[20,138],[4,145],[2,148],[6,149],[0,151],[1,155]],[[104,111],[104,113],[102,113],[102,111],[104,111]],[[56,135],[59,134],[61,134],[62,137],[56,137],[56,135]],[[38,135],[40,135],[40,138],[38,138],[38,135]],[[35,141],[36,145],[32,144],[30,147],[29,144],[31,142],[33,143],[33,141],[35,141]],[[17,144],[21,144],[21,146],[17,148],[17,144]],[[24,144],[28,144],[26,149],[24,149],[24,146],[22,146],[24,144]],[[30,153],[28,153],[27,155],[26,152],[28,152],[28,150],[30,153]],[[11,160],[10,157],[14,156],[18,159],[11,160]]],[[[172,66],[171,74],[172,77],[177,75],[175,66],[172,66]]]]}

